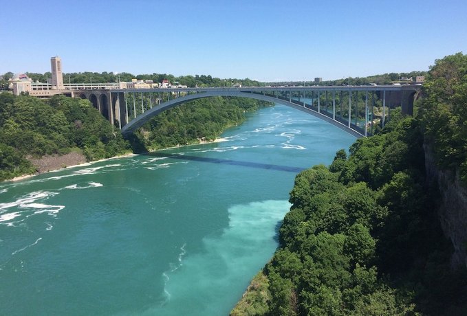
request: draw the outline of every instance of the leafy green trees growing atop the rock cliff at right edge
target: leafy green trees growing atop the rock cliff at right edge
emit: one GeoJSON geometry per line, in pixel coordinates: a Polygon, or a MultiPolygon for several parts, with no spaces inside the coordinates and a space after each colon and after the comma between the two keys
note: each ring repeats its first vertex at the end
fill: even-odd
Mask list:
{"type": "Polygon", "coordinates": [[[420,115],[439,166],[458,171],[467,185],[467,55],[436,60],[424,84],[420,115]]]}

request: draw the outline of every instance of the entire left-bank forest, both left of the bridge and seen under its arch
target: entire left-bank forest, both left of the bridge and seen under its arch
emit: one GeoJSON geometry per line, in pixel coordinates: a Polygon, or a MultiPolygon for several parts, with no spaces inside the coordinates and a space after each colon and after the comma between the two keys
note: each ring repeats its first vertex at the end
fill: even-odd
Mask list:
{"type": "Polygon", "coordinates": [[[35,172],[30,159],[76,151],[94,161],[124,153],[210,141],[265,102],[197,100],[165,111],[123,139],[88,100],[55,95],[41,100],[0,93],[0,181],[35,172]]]}

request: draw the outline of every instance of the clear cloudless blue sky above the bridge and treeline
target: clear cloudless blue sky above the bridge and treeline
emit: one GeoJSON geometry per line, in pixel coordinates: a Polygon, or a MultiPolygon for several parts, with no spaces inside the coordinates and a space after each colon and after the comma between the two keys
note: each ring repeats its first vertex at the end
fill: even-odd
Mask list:
{"type": "Polygon", "coordinates": [[[467,1],[47,0],[0,9],[0,74],[324,80],[428,70],[467,53],[467,1]]]}

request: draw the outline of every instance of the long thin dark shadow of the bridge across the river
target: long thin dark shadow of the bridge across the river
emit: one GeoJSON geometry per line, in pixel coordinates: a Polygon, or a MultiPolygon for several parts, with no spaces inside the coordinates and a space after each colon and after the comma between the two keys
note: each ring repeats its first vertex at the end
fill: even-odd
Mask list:
{"type": "Polygon", "coordinates": [[[169,154],[169,153],[160,153],[160,152],[145,153],[143,155],[151,156],[151,157],[166,157],[166,158],[179,159],[179,160],[184,160],[184,161],[201,161],[201,162],[207,162],[207,163],[218,163],[218,164],[225,164],[225,165],[231,165],[231,166],[241,166],[241,167],[259,168],[259,169],[265,169],[265,170],[276,170],[276,171],[286,171],[286,172],[295,172],[295,173],[305,170],[305,168],[281,166],[281,165],[274,165],[270,163],[257,163],[257,162],[250,162],[250,161],[208,158],[208,157],[169,154]]]}

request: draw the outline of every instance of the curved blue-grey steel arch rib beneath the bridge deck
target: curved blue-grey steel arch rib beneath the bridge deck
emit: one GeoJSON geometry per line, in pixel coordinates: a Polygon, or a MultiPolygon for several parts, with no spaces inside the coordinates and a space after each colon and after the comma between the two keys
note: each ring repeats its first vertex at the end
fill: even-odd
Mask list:
{"type": "Polygon", "coordinates": [[[343,129],[343,131],[346,131],[347,133],[350,133],[351,135],[354,135],[355,137],[364,137],[362,133],[359,131],[354,130],[353,128],[350,128],[346,124],[343,124],[341,122],[338,122],[337,120],[333,120],[332,117],[328,117],[327,115],[324,115],[322,113],[319,113],[318,111],[314,111],[313,109],[309,109],[306,106],[303,105],[298,105],[293,102],[283,100],[282,98],[276,98],[274,96],[270,95],[263,95],[259,93],[251,93],[251,92],[243,92],[243,91],[235,91],[235,90],[214,90],[214,91],[204,91],[201,93],[195,93],[195,94],[188,94],[180,98],[175,98],[173,100],[169,100],[167,102],[164,102],[162,104],[158,104],[157,106],[154,106],[152,109],[149,109],[145,111],[144,113],[138,115],[135,117],[134,120],[131,120],[128,124],[125,124],[122,127],[122,134],[123,135],[129,135],[133,133],[137,128],[140,128],[143,126],[146,122],[151,120],[152,117],[155,115],[158,115],[162,111],[171,109],[175,106],[178,106],[180,104],[184,104],[186,102],[190,102],[193,100],[198,100],[202,98],[210,98],[210,97],[215,97],[215,96],[222,96],[222,97],[240,97],[240,98],[250,98],[250,99],[255,99],[255,100],[262,100],[262,101],[268,101],[268,102],[273,102],[273,103],[279,103],[283,104],[285,106],[290,106],[293,109],[303,111],[305,113],[314,115],[315,117],[318,117],[321,120],[324,120],[325,122],[328,122],[334,126],[337,126],[338,128],[343,129]]]}

